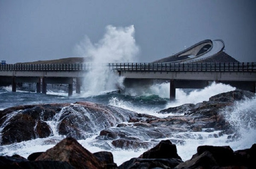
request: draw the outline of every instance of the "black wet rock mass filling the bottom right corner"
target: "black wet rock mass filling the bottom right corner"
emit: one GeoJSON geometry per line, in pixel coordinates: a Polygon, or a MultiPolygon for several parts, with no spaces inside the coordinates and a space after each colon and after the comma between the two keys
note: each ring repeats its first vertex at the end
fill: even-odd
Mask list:
{"type": "Polygon", "coordinates": [[[229,146],[198,146],[197,154],[175,169],[233,169],[255,168],[256,144],[250,149],[233,152],[229,146]]]}

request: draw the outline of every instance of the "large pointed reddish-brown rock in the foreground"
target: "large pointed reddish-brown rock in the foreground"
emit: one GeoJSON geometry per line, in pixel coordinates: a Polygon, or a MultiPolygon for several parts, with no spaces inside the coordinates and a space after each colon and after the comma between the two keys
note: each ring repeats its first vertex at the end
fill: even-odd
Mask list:
{"type": "Polygon", "coordinates": [[[35,161],[62,161],[68,162],[75,168],[104,168],[104,163],[101,162],[87,149],[74,138],[65,138],[53,148],[43,152],[35,161]]]}

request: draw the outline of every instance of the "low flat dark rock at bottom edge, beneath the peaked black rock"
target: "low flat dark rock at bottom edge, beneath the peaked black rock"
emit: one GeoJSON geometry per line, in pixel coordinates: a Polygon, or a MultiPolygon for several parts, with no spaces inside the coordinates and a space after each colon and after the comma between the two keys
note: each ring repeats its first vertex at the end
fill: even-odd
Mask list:
{"type": "Polygon", "coordinates": [[[168,159],[132,158],[129,161],[126,161],[120,166],[118,166],[118,168],[119,169],[149,169],[149,168],[170,169],[170,168],[174,168],[180,163],[182,163],[182,161],[177,158],[168,158],[168,159]]]}

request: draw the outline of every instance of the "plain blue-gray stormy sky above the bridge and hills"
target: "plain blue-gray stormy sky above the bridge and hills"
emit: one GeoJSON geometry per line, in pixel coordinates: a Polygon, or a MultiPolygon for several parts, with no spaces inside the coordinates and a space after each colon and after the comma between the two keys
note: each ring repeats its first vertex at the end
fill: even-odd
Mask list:
{"type": "Polygon", "coordinates": [[[255,9],[255,0],[0,0],[0,60],[76,57],[85,36],[98,43],[107,25],[134,25],[140,62],[204,39],[222,39],[227,54],[256,62],[255,9]]]}

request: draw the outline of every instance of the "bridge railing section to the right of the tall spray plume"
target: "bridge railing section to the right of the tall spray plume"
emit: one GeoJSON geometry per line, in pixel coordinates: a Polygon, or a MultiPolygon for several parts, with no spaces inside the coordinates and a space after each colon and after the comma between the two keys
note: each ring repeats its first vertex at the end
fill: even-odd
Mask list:
{"type": "Polygon", "coordinates": [[[219,63],[109,63],[120,71],[228,71],[255,72],[256,62],[219,63]]]}

